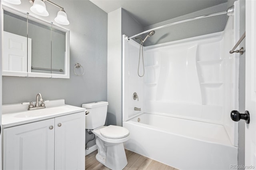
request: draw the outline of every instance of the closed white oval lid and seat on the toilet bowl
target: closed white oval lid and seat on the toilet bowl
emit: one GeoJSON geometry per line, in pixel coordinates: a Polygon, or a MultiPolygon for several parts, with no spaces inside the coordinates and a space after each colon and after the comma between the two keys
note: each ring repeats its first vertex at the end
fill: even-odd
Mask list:
{"type": "Polygon", "coordinates": [[[100,129],[100,134],[105,138],[120,139],[128,136],[129,130],[122,126],[109,125],[105,128],[100,129]]]}

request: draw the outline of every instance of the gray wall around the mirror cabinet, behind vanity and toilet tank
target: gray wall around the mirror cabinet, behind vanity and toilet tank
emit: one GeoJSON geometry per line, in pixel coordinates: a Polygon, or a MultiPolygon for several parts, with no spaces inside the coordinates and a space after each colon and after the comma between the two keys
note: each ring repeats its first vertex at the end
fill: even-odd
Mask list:
{"type": "MultiPolygon", "coordinates": [[[[35,101],[37,93],[41,93],[44,100],[63,98],[66,104],[80,107],[83,103],[107,100],[107,13],[88,0],[52,2],[64,7],[70,21],[70,25],[61,26],[70,30],[70,78],[3,76],[3,104],[35,101]],[[84,76],[74,74],[77,62],[85,68],[84,76]]],[[[45,4],[50,16],[39,18],[53,21],[58,8],[45,4]]],[[[28,0],[22,0],[18,7],[29,10],[30,6],[28,0]]],[[[86,134],[86,141],[90,138],[93,135],[86,134]]],[[[88,146],[93,144],[90,142],[88,146]]]]}

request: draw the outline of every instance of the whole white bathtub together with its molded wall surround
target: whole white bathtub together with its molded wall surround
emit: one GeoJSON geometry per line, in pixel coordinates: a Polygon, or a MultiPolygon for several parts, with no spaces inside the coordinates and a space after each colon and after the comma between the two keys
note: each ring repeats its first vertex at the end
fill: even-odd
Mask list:
{"type": "Polygon", "coordinates": [[[140,44],[123,36],[125,148],[178,169],[237,164],[238,123],[230,111],[238,107],[239,54],[229,51],[240,38],[238,20],[235,10],[222,32],[144,47],[142,78],[140,44]]]}

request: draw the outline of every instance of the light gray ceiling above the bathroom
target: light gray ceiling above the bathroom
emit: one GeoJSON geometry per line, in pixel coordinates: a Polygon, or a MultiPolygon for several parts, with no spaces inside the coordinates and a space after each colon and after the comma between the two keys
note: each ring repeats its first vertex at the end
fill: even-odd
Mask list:
{"type": "Polygon", "coordinates": [[[109,13],[124,8],[143,27],[209,8],[228,0],[90,0],[109,13]]]}

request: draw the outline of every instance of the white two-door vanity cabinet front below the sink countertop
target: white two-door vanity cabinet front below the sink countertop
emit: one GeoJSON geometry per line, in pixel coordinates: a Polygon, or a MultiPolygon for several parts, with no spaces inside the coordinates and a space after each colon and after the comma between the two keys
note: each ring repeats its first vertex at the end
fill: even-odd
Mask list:
{"type": "Polygon", "coordinates": [[[4,128],[4,170],[85,169],[85,113],[4,128]]]}

